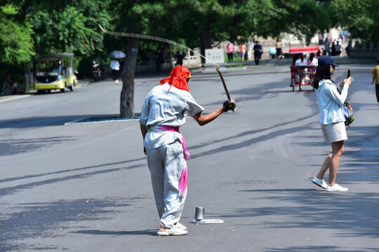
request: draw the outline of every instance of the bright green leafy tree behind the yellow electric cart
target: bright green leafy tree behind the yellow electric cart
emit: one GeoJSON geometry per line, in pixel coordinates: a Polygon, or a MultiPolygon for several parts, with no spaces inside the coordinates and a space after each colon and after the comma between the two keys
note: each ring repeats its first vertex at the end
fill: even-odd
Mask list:
{"type": "Polygon", "coordinates": [[[94,49],[102,50],[103,34],[98,22],[109,22],[109,1],[23,0],[20,4],[33,25],[39,55],[63,51],[90,55],[94,49]]]}

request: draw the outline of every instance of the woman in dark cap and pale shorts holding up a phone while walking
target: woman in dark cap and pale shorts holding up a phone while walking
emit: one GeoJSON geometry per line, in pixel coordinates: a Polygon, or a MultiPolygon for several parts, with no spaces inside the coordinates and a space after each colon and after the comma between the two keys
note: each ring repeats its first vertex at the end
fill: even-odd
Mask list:
{"type": "Polygon", "coordinates": [[[351,77],[343,80],[340,83],[342,90],[338,92],[337,86],[331,80],[335,66],[338,64],[335,64],[330,56],[323,55],[319,57],[319,65],[314,76],[313,86],[319,102],[321,130],[324,140],[331,143],[332,151],[326,156],[319,173],[314,176],[312,182],[329,192],[344,192],[348,189],[335,183],[335,179],[340,165],[340,156],[344,151],[343,142],[347,139],[345,117],[341,106],[345,102],[352,80],[351,77]],[[324,181],[327,170],[329,170],[328,183],[324,181]]]}

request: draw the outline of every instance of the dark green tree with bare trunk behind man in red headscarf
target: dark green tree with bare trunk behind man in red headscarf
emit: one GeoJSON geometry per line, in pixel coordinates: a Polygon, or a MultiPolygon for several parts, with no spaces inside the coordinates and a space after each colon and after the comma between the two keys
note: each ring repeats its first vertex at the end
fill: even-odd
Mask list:
{"type": "MultiPolygon", "coordinates": [[[[271,3],[271,0],[263,2],[271,3]]],[[[275,8],[269,4],[262,6],[260,3],[261,1],[257,0],[161,0],[154,3],[142,0],[114,0],[111,4],[114,19],[110,29],[161,36],[173,41],[181,40],[192,48],[200,43],[204,55],[204,50],[211,48],[214,41],[233,41],[241,34],[248,36],[249,30],[259,21],[253,18],[252,13],[248,13],[246,6],[254,6],[257,11],[265,7],[267,13],[271,11],[272,15],[278,15],[274,11],[275,8]],[[244,24],[246,20],[249,22],[244,24]],[[251,20],[253,22],[250,22],[251,20]]],[[[263,15],[259,17],[262,18],[263,15]]],[[[134,72],[138,43],[138,38],[126,38],[126,59],[121,71],[121,117],[134,116],[134,72]]]]}

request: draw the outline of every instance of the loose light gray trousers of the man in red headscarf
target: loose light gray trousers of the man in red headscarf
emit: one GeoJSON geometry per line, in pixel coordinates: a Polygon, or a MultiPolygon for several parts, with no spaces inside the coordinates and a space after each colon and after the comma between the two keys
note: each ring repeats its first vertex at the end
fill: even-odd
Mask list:
{"type": "Polygon", "coordinates": [[[161,225],[173,228],[182,215],[186,198],[179,197],[180,177],[186,165],[182,143],[177,140],[159,148],[147,148],[146,152],[161,225]]]}

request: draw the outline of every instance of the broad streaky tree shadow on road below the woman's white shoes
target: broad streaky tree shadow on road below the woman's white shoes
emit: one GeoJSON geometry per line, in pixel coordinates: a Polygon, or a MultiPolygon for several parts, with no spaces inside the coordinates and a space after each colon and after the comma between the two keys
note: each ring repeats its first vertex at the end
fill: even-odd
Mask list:
{"type": "Polygon", "coordinates": [[[327,193],[308,188],[241,192],[248,193],[251,205],[257,200],[264,200],[272,204],[278,202],[282,207],[234,209],[230,214],[220,214],[221,218],[263,216],[266,221],[262,225],[272,228],[312,227],[335,230],[340,237],[379,237],[379,213],[376,211],[379,208],[379,193],[327,193]]]}

